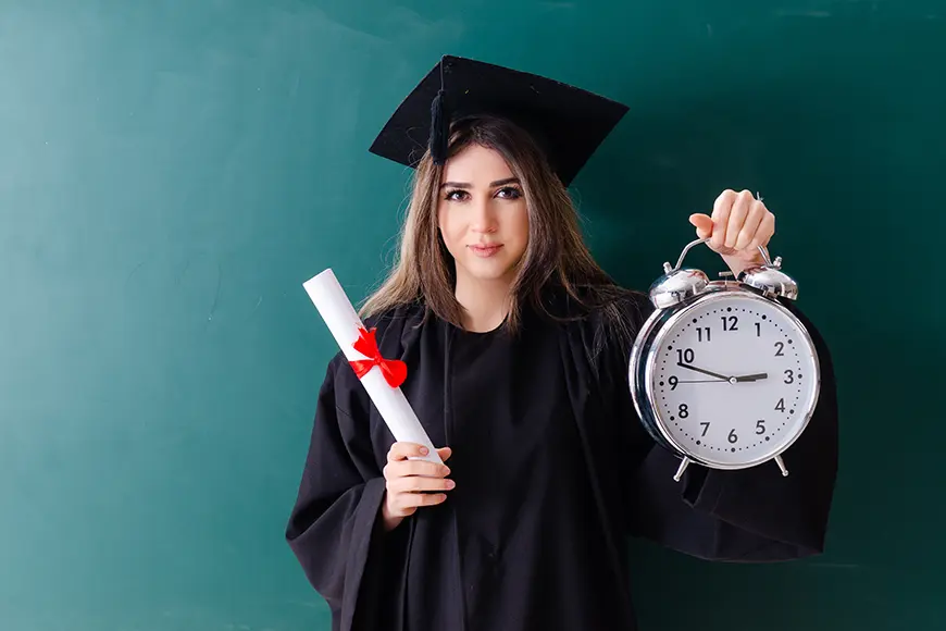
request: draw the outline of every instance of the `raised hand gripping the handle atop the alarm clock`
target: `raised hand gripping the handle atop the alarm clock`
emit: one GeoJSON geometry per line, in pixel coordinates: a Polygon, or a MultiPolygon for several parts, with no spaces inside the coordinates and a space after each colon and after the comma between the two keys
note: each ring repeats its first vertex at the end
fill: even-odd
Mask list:
{"type": "Polygon", "coordinates": [[[759,247],[764,248],[775,234],[775,215],[748,190],[722,191],[713,203],[712,216],[694,213],[689,223],[696,226],[698,238],[709,238],[709,248],[722,256],[736,275],[763,261],[759,247]]]}

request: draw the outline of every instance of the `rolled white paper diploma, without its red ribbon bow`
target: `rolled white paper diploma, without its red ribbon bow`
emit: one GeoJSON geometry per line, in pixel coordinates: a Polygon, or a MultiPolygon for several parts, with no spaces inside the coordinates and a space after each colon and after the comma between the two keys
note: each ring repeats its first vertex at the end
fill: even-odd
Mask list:
{"type": "MultiPolygon", "coordinates": [[[[327,269],[302,283],[302,287],[309,294],[309,298],[312,299],[345,357],[349,361],[366,359],[352,346],[358,339],[358,330],[364,324],[335,277],[335,273],[327,269]]],[[[427,448],[426,456],[412,459],[443,463],[404,393],[399,387],[391,387],[385,381],[379,367],[372,367],[361,378],[361,384],[368,391],[368,396],[371,397],[396,441],[418,443],[427,448]]]]}

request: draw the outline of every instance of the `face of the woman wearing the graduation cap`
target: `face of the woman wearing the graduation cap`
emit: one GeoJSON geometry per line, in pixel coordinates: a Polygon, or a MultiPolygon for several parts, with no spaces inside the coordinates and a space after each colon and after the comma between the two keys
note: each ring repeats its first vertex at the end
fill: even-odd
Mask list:
{"type": "Polygon", "coordinates": [[[511,283],[528,243],[522,185],[502,156],[471,145],[444,169],[437,220],[457,282],[511,283]]]}

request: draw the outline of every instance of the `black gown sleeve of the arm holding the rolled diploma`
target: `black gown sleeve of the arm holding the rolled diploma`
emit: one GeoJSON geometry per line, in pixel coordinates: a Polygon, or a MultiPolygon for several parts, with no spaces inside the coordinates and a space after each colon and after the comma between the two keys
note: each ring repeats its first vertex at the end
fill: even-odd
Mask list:
{"type": "MultiPolygon", "coordinates": [[[[372,454],[356,378],[338,354],[319,392],[308,456],[286,541],[340,628],[356,627],[356,604],[381,564],[385,480],[372,454]],[[361,419],[364,419],[363,421],[361,419]]],[[[359,607],[359,615],[364,610],[359,607]]],[[[370,609],[370,607],[368,608],[370,609]]]]}

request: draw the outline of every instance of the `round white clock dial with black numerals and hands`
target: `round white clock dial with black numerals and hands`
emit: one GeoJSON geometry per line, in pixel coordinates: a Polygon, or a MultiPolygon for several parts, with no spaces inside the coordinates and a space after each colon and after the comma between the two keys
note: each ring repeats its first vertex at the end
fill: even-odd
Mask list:
{"type": "Polygon", "coordinates": [[[649,389],[672,442],[722,467],[768,460],[801,432],[818,394],[810,338],[777,305],[737,292],[669,320],[649,389]]]}

